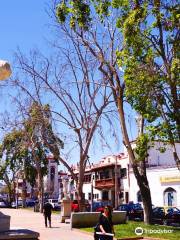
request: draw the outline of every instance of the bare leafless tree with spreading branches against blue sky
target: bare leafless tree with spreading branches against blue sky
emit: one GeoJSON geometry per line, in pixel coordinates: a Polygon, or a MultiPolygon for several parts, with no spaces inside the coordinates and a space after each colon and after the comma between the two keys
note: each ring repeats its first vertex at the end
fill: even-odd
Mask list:
{"type": "MultiPolygon", "coordinates": [[[[35,94],[27,80],[16,77],[14,83],[32,99],[38,102],[47,101],[51,104],[53,118],[71,130],[79,149],[79,173],[74,174],[70,164],[60,157],[59,151],[51,147],[55,159],[58,159],[72,174],[77,183],[77,194],[80,209],[83,209],[83,180],[88,161],[88,152],[96,130],[103,136],[102,123],[112,123],[109,112],[113,112],[112,93],[107,85],[99,84],[96,62],[91,59],[89,51],[82,49],[74,38],[69,39],[69,49],[59,49],[60,53],[55,61],[35,52],[31,59],[25,58],[20,52],[16,55],[16,63],[19,71],[22,71],[26,79],[33,83],[35,94]],[[43,95],[43,94],[44,95],[43,95]],[[109,106],[109,107],[108,107],[109,106]]],[[[30,84],[30,85],[31,85],[30,84]]],[[[48,144],[48,143],[47,143],[48,144]]],[[[74,143],[72,143],[74,144],[74,143]]]]}

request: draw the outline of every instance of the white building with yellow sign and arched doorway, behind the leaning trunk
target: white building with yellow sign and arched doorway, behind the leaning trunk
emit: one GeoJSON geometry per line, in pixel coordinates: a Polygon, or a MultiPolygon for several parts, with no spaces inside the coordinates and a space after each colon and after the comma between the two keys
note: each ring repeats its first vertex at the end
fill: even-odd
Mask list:
{"type": "MultiPolygon", "coordinates": [[[[162,143],[155,143],[149,149],[147,159],[147,178],[151,189],[152,203],[155,206],[180,207],[180,171],[176,167],[171,146],[166,146],[166,151],[161,153],[159,148],[162,143]]],[[[180,156],[180,144],[176,144],[177,154],[180,156]]],[[[129,199],[141,202],[139,187],[132,169],[129,170],[129,199]]]]}

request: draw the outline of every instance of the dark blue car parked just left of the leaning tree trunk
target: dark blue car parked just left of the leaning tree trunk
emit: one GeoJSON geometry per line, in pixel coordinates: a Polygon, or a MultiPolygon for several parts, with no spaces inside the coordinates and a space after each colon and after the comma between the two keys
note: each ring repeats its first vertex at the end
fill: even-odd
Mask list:
{"type": "Polygon", "coordinates": [[[129,220],[143,220],[143,208],[140,203],[121,204],[119,211],[126,211],[129,220]]]}

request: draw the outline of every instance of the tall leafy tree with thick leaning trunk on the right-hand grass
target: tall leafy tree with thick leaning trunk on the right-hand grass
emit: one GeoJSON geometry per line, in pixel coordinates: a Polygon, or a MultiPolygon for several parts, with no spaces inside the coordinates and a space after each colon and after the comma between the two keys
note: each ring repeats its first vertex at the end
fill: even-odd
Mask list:
{"type": "Polygon", "coordinates": [[[146,223],[151,222],[152,212],[145,166],[149,137],[143,133],[144,121],[141,121],[142,131],[133,151],[124,115],[124,99],[126,97],[143,119],[152,122],[161,117],[159,126],[163,126],[162,119],[165,120],[169,134],[166,137],[173,143],[173,134],[176,132],[178,136],[180,119],[178,72],[174,68],[178,64],[177,6],[177,1],[67,0],[60,1],[56,8],[58,21],[69,24],[74,37],[98,60],[99,70],[112,88],[124,144],[141,191],[146,223]],[[114,21],[116,27],[113,27],[114,21]],[[168,28],[166,32],[165,28],[168,28]],[[120,38],[117,38],[117,29],[120,38]],[[104,42],[100,41],[100,34],[105,35],[104,42]],[[169,42],[170,48],[165,47],[165,41],[169,42]],[[108,43],[111,47],[107,47],[108,43]],[[116,52],[112,46],[116,47],[116,52]],[[110,51],[109,57],[107,52],[110,51]],[[118,68],[123,70],[123,76],[118,68]]]}

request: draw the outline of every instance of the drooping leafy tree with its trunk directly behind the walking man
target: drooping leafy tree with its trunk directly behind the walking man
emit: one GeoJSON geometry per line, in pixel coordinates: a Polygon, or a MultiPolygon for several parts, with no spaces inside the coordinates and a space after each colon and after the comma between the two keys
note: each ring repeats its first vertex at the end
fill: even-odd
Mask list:
{"type": "MultiPolygon", "coordinates": [[[[28,155],[31,159],[31,167],[26,167],[28,173],[32,166],[37,171],[37,185],[40,201],[40,211],[43,211],[44,183],[43,177],[47,174],[48,155],[53,154],[57,161],[60,155],[60,148],[63,142],[54,134],[51,125],[51,115],[49,105],[40,105],[33,102],[29,111],[29,117],[24,121],[25,141],[28,147],[28,155]]],[[[32,175],[30,175],[30,180],[32,175]]]]}

